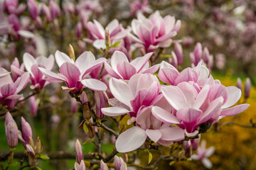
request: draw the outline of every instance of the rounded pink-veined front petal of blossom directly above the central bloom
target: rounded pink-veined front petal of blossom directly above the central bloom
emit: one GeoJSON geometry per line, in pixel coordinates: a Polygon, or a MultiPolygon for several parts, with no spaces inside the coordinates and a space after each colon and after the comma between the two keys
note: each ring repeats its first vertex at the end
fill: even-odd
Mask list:
{"type": "Polygon", "coordinates": [[[136,69],[129,62],[119,62],[117,64],[117,72],[122,76],[122,79],[129,80],[134,74],[137,73],[136,69]]]}

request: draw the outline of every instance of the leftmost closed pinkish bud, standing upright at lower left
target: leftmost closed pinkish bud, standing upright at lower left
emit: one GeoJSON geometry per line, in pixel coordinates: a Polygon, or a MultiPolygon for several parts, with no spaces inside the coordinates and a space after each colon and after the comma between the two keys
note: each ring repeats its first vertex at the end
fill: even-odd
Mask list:
{"type": "Polygon", "coordinates": [[[6,113],[4,127],[8,146],[11,148],[16,147],[18,145],[18,127],[9,112],[6,113]]]}

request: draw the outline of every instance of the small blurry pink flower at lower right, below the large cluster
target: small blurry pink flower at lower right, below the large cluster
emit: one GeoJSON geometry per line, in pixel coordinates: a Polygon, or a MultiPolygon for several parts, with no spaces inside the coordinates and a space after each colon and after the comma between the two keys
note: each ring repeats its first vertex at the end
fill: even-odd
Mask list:
{"type": "Polygon", "coordinates": [[[193,154],[191,156],[191,159],[199,160],[203,163],[204,166],[206,166],[206,168],[211,169],[213,164],[210,162],[208,157],[210,157],[214,153],[214,151],[214,147],[209,147],[208,149],[206,149],[206,141],[203,140],[201,142],[201,146],[198,147],[198,152],[196,152],[196,154],[193,154]]]}

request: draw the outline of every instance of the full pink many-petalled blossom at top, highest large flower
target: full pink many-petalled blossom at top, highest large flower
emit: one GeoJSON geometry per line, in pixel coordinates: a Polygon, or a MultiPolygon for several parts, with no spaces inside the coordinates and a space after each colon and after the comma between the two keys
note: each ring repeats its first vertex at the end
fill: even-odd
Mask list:
{"type": "Polygon", "coordinates": [[[158,47],[169,47],[171,38],[180,28],[181,21],[175,23],[174,16],[162,18],[159,11],[156,11],[146,18],[139,13],[138,19],[132,21],[132,31],[136,36],[130,34],[130,37],[137,42],[137,47],[145,52],[154,52],[158,47]]]}

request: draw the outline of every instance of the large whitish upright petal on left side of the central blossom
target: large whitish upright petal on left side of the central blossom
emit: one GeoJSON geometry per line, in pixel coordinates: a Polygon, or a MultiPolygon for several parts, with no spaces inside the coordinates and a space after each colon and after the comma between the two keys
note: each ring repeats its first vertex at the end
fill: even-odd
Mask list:
{"type": "Polygon", "coordinates": [[[128,84],[119,79],[110,79],[110,91],[112,95],[117,98],[118,101],[124,103],[125,105],[131,106],[132,99],[134,98],[132,91],[128,84]]]}

